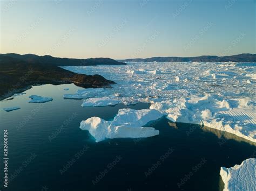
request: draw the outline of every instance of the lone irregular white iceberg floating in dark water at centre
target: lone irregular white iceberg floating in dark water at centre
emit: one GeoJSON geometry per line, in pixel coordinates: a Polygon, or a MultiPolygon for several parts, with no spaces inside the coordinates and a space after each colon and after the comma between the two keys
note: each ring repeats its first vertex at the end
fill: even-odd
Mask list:
{"type": "Polygon", "coordinates": [[[89,131],[95,137],[96,142],[100,142],[106,138],[152,137],[159,135],[159,131],[143,126],[162,116],[163,114],[153,109],[120,109],[113,121],[91,117],[80,123],[80,129],[89,131]]]}

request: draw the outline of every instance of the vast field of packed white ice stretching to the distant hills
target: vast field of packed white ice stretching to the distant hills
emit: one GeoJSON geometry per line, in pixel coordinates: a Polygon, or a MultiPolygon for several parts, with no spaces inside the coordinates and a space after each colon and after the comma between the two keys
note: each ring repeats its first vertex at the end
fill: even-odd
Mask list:
{"type": "Polygon", "coordinates": [[[256,142],[255,63],[129,62],[64,68],[100,74],[117,83],[113,88],[85,89],[64,97],[147,102],[173,122],[203,124],[256,142]]]}

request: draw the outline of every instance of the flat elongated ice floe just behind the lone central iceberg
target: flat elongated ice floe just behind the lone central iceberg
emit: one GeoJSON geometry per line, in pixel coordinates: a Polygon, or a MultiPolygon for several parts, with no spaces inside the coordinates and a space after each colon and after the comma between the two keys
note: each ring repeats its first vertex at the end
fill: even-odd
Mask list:
{"type": "Polygon", "coordinates": [[[82,103],[82,107],[102,107],[108,105],[117,105],[121,103],[118,98],[111,98],[111,97],[92,97],[87,98],[82,103]]]}

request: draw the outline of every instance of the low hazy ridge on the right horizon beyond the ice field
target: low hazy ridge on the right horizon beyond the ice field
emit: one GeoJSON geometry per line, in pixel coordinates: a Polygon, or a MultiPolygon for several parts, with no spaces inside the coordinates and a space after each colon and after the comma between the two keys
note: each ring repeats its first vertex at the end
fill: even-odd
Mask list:
{"type": "Polygon", "coordinates": [[[153,57],[121,60],[123,62],[256,62],[256,54],[238,54],[232,56],[196,56],[196,57],[153,57]]]}

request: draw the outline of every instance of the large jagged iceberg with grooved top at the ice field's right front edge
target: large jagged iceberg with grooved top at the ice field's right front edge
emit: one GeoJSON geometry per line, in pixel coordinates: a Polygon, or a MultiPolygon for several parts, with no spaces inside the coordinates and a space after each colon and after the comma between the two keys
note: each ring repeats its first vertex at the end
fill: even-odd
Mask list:
{"type": "Polygon", "coordinates": [[[173,122],[204,124],[256,142],[255,108],[255,104],[245,98],[219,100],[218,96],[207,94],[185,100],[180,108],[169,108],[165,112],[173,122]]]}

